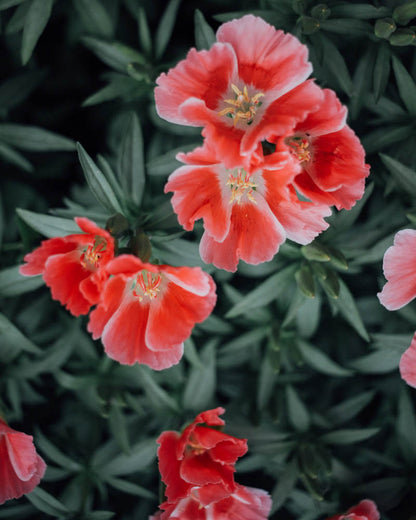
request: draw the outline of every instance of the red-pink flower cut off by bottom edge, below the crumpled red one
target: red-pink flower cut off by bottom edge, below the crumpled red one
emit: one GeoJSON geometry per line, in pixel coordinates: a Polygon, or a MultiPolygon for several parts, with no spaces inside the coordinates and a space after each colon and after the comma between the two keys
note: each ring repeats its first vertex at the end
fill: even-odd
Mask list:
{"type": "Polygon", "coordinates": [[[198,494],[199,488],[195,487],[177,503],[165,502],[160,506],[165,511],[149,520],[266,520],[272,506],[266,491],[238,484],[227,498],[209,505],[201,503],[198,494]]]}

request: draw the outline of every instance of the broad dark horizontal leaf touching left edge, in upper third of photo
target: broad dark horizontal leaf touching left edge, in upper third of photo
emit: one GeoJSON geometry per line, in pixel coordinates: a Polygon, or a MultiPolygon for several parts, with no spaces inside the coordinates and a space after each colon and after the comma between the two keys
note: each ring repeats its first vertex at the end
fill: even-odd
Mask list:
{"type": "Polygon", "coordinates": [[[0,140],[30,152],[72,152],[75,143],[67,137],[37,126],[0,123],[0,140]]]}

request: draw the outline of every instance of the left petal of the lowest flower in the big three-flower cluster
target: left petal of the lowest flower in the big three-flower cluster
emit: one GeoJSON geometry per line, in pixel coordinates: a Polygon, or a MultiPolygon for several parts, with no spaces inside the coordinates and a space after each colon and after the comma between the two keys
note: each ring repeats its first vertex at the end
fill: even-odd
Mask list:
{"type": "Polygon", "coordinates": [[[174,192],[172,206],[187,231],[202,218],[207,232],[221,242],[230,227],[231,208],[221,197],[217,170],[215,166],[182,166],[169,177],[165,193],[174,192]]]}

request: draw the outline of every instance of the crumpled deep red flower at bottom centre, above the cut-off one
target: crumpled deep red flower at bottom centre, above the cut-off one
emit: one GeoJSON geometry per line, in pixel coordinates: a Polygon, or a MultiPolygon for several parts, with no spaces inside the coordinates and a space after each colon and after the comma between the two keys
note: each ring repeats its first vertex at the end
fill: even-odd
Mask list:
{"type": "Polygon", "coordinates": [[[247,452],[247,442],[218,429],[225,424],[219,418],[224,411],[202,412],[182,434],[166,431],[158,438],[159,470],[169,504],[189,497],[195,487],[203,507],[235,492],[234,465],[247,452]]]}

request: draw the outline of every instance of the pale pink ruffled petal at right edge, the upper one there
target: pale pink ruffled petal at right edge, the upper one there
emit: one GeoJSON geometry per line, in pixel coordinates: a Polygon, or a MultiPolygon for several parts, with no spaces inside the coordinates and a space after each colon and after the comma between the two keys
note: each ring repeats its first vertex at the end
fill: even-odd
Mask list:
{"type": "Polygon", "coordinates": [[[404,229],[384,255],[383,270],[387,283],[377,294],[389,311],[400,309],[416,296],[416,231],[404,229]]]}

